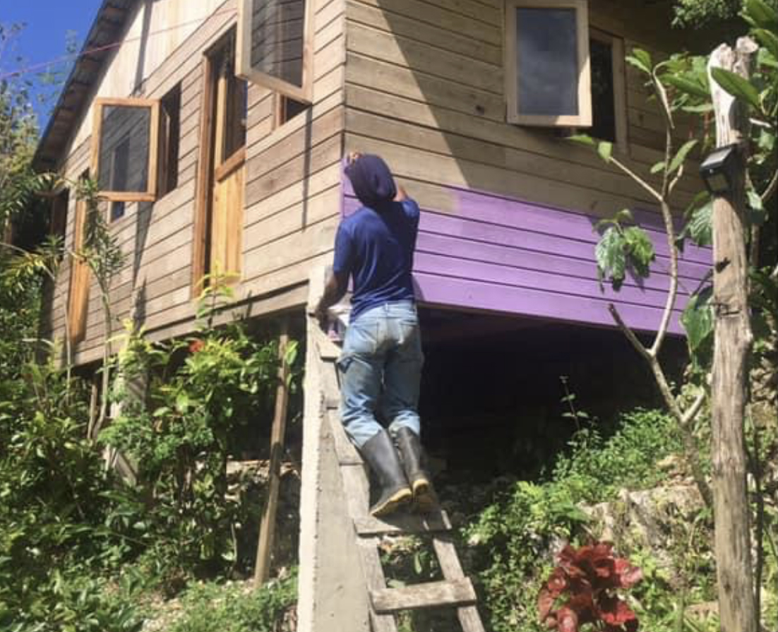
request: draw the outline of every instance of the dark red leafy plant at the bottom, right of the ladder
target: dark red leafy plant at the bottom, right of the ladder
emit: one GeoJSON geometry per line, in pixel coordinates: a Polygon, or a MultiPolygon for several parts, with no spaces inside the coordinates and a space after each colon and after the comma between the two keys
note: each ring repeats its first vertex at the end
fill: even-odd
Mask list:
{"type": "Polygon", "coordinates": [[[643,578],[640,568],[615,557],[608,542],[594,542],[574,549],[565,546],[559,565],[538,596],[540,620],[559,632],[588,630],[636,632],[638,619],[619,597],[643,578]]]}

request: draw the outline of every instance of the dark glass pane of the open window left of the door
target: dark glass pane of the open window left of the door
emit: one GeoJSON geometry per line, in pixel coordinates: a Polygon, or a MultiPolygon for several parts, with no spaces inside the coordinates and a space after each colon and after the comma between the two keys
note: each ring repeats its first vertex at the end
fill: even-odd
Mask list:
{"type": "Polygon", "coordinates": [[[151,108],[104,105],[100,123],[100,191],[149,190],[151,108]]]}

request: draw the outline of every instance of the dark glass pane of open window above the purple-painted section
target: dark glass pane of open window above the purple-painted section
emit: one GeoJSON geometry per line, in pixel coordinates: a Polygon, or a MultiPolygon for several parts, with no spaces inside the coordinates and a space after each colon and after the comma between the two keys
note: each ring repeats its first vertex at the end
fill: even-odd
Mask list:
{"type": "Polygon", "coordinates": [[[517,9],[518,114],[578,114],[575,9],[517,9]]]}

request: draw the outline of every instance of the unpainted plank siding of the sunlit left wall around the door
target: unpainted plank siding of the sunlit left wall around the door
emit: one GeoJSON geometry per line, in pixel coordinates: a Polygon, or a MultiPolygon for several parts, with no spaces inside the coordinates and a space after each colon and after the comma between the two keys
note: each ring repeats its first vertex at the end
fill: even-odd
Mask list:
{"type": "MultiPolygon", "coordinates": [[[[162,0],[156,3],[180,0],[162,0]]],[[[340,170],[342,153],[343,82],[345,78],[345,5],[343,0],[315,0],[314,105],[299,117],[278,127],[272,93],[249,85],[247,160],[241,258],[243,282],[235,287],[247,314],[262,314],[300,306],[307,298],[304,284],[310,266],[324,263],[332,248],[342,208],[340,170]]],[[[195,304],[191,289],[191,262],[198,140],[202,101],[202,58],[205,51],[234,24],[234,0],[212,9],[187,39],[163,59],[147,59],[152,72],[135,96],[159,99],[180,83],[180,150],[178,186],[153,203],[129,203],[125,216],[111,230],[127,255],[111,292],[116,329],[127,318],[133,297],[140,299],[143,324],[152,339],[191,332],[195,304]]],[[[160,9],[161,10],[161,9],[160,9]]],[[[170,9],[172,11],[172,9],[170,9]]],[[[147,55],[156,49],[146,47],[147,55]]],[[[154,53],[157,54],[157,53],[154,53]]],[[[121,58],[122,53],[117,53],[121,58]]],[[[126,72],[124,63],[110,65],[101,85],[114,86],[115,73],[126,72]]],[[[121,83],[121,82],[120,82],[121,83]]],[[[109,93],[108,97],[127,96],[109,93]]],[[[91,119],[89,119],[91,120],[91,119]]],[[[75,178],[89,166],[89,128],[62,162],[61,171],[75,178]]],[[[75,138],[75,136],[74,136],[75,138]]],[[[72,218],[75,204],[71,196],[72,218]]],[[[72,244],[72,219],[66,243],[72,244]]],[[[61,338],[68,296],[69,263],[54,292],[52,328],[61,338]]],[[[89,294],[86,339],[75,349],[76,363],[100,356],[103,319],[96,286],[89,294]]]]}

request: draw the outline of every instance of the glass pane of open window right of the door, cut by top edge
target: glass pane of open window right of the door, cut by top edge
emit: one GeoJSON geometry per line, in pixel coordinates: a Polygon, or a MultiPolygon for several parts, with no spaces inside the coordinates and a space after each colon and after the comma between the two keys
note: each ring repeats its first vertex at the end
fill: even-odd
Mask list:
{"type": "Polygon", "coordinates": [[[254,0],[251,6],[251,68],[303,86],[305,0],[254,0]]]}

